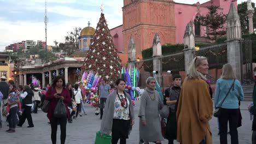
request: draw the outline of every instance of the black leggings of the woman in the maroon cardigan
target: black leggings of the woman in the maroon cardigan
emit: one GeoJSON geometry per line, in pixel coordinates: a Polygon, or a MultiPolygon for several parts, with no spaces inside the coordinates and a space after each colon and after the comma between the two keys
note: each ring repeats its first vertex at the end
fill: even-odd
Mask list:
{"type": "Polygon", "coordinates": [[[59,122],[61,127],[61,144],[65,144],[67,117],[63,117],[63,118],[52,117],[50,119],[50,122],[51,122],[51,142],[53,144],[56,144],[57,128],[58,128],[58,122],[59,122]]]}

